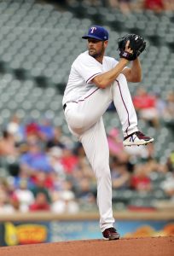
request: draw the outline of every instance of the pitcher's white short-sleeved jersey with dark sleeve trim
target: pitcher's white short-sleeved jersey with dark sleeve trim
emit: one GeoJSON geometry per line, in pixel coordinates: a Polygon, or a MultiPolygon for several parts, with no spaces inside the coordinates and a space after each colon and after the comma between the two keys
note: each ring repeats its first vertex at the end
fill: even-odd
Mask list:
{"type": "Polygon", "coordinates": [[[100,63],[89,55],[88,50],[78,55],[71,67],[62,104],[81,99],[92,87],[96,90],[96,84],[92,83],[91,80],[97,75],[109,71],[118,62],[112,57],[104,56],[102,63],[100,63]]]}

